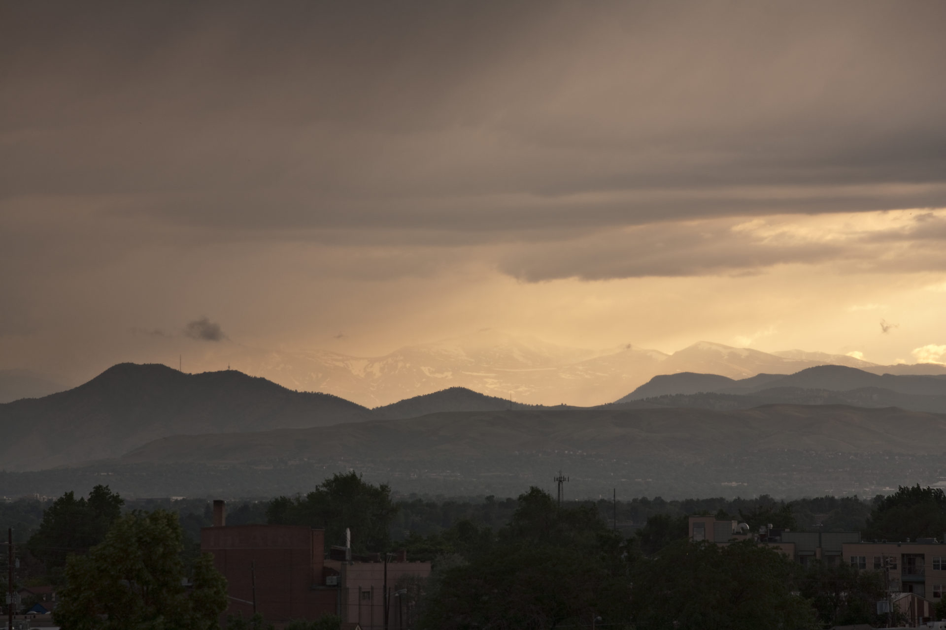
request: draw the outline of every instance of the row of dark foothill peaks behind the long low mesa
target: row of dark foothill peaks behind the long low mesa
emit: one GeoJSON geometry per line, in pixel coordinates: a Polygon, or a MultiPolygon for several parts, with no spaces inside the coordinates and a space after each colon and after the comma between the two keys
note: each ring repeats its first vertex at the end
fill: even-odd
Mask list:
{"type": "Polygon", "coordinates": [[[121,457],[175,435],[261,434],[451,413],[571,410],[581,415],[678,408],[674,413],[689,417],[693,412],[683,410],[728,412],[774,403],[946,413],[946,376],[876,375],[847,366],[815,366],[791,375],[759,374],[741,380],[685,372],[657,376],[597,410],[525,405],[463,387],[368,409],[236,370],[185,374],[161,365],[119,364],[68,391],[0,404],[6,437],[0,444],[0,462],[8,470],[74,466],[121,457]]]}

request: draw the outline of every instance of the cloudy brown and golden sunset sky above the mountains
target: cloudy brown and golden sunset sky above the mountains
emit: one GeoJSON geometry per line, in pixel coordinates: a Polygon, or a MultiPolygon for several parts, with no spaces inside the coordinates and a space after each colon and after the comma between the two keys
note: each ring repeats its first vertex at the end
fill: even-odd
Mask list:
{"type": "Polygon", "coordinates": [[[946,362],[941,2],[6,3],[0,368],[946,362]]]}

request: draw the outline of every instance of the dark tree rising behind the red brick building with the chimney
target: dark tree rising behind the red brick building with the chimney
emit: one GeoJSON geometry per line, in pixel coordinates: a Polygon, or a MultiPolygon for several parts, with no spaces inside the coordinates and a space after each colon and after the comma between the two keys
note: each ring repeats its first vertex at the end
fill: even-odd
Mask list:
{"type": "Polygon", "coordinates": [[[336,473],[305,497],[273,499],[266,516],[276,525],[324,527],[327,545],[343,544],[345,528],[351,528],[352,548],[366,553],[390,547],[396,511],[387,484],[368,484],[352,471],[336,473]]]}

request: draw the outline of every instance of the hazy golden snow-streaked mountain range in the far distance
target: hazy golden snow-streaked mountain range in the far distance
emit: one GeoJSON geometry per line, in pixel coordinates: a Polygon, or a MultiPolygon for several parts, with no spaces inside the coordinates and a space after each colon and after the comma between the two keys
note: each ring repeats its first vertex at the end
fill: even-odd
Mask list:
{"type": "MultiPolygon", "coordinates": [[[[192,351],[198,354],[185,356],[184,363],[193,371],[232,365],[289,389],[333,394],[366,407],[451,387],[523,404],[594,406],[617,400],[657,375],[681,372],[734,380],[761,373],[792,374],[821,365],[857,367],[876,374],[946,373],[946,366],[938,364],[877,366],[846,355],[804,350],[769,353],[710,342],[672,354],[630,344],[579,349],[493,330],[405,346],[375,357],[329,350],[254,349],[230,340],[204,342],[192,351]]],[[[26,388],[20,397],[45,393],[50,392],[26,388]]]]}

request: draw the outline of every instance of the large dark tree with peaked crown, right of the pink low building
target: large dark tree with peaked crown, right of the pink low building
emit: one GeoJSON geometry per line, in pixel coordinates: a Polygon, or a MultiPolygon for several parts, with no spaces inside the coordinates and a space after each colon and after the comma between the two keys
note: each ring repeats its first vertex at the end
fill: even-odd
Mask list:
{"type": "Polygon", "coordinates": [[[558,508],[531,488],[492,549],[438,568],[422,627],[537,630],[601,617],[620,628],[630,586],[622,553],[596,506],[558,508]]]}

